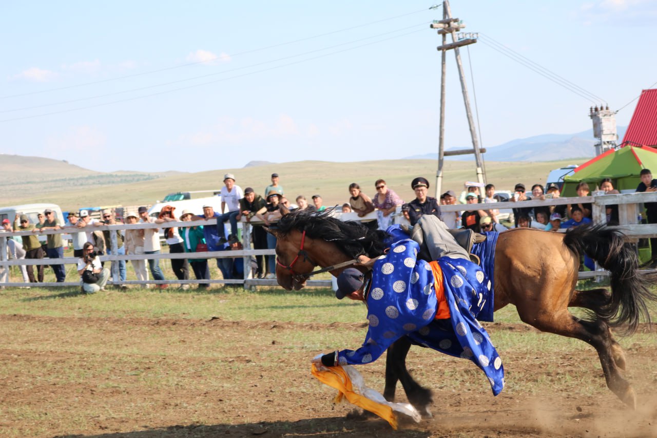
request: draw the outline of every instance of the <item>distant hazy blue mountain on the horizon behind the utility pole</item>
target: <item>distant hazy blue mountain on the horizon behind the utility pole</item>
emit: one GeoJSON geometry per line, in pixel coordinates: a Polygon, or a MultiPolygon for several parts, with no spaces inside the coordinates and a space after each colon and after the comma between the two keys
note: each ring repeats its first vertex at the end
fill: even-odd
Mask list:
{"type": "MultiPolygon", "coordinates": [[[[626,126],[618,127],[619,143],[625,135],[626,126]]],[[[541,134],[533,137],[507,141],[497,146],[486,147],[484,159],[487,161],[553,161],[565,158],[595,157],[595,143],[593,130],[578,132],[577,134],[541,134]]],[[[468,146],[452,147],[449,149],[468,149],[468,146]]],[[[438,153],[432,152],[424,155],[413,155],[402,159],[435,160],[438,153]]],[[[472,155],[457,155],[449,160],[472,160],[472,155]]]]}

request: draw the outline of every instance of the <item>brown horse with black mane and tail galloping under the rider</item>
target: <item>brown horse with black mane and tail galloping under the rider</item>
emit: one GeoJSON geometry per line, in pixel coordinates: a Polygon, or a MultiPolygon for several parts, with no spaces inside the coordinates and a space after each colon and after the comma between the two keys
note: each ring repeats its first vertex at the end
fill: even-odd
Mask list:
{"type": "MultiPolygon", "coordinates": [[[[306,212],[286,214],[269,232],[277,237],[276,276],[286,290],[304,287],[306,274],[315,266],[334,266],[359,255],[382,255],[388,237],[359,222],[306,212]]],[[[635,408],[635,392],[622,376],[625,356],[610,328],[629,334],[641,317],[649,322],[646,302],[657,301],[657,297],[647,288],[648,281],[637,270],[637,255],[623,237],[622,232],[604,226],[580,226],[568,233],[528,228],[500,233],[493,272],[494,306],[498,310],[514,304],[526,324],[592,345],[600,357],[608,388],[635,408]],[[580,254],[610,271],[611,292],[575,289],[580,254]],[[569,306],[588,309],[589,317],[584,320],[573,316],[569,306]]],[[[342,269],[330,272],[338,276],[342,269]]],[[[432,401],[431,391],[415,382],[406,369],[410,347],[410,339],[401,337],[388,349],[384,397],[394,399],[399,380],[409,402],[430,415],[427,408],[432,401]]]]}

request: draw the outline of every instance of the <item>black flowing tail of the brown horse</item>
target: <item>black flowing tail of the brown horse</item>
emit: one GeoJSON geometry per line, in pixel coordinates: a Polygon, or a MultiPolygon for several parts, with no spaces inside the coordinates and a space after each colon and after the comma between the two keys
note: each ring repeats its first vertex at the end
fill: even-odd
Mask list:
{"type": "Polygon", "coordinates": [[[633,245],[625,241],[622,231],[605,225],[579,226],[568,230],[564,244],[575,253],[585,254],[610,272],[612,297],[608,304],[595,310],[598,318],[615,328],[633,333],[643,317],[650,323],[647,303],[657,301],[639,271],[639,258],[633,245]]]}

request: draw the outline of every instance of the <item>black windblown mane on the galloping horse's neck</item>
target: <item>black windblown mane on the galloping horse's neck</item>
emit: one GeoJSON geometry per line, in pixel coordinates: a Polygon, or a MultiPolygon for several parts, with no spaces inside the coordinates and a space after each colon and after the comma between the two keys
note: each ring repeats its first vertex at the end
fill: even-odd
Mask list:
{"type": "Polygon", "coordinates": [[[296,210],[285,214],[273,227],[279,235],[287,235],[292,230],[306,230],[311,239],[324,239],[335,243],[348,256],[356,258],[359,255],[378,257],[383,254],[389,237],[386,231],[370,230],[360,222],[342,221],[332,217],[332,210],[308,212],[296,210]]]}

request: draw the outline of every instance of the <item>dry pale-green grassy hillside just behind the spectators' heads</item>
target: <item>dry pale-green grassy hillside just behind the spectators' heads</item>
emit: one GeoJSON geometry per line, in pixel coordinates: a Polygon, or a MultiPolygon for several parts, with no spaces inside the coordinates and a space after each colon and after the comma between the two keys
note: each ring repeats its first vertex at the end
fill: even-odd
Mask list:
{"type": "MultiPolygon", "coordinates": [[[[27,157],[24,157],[27,158],[27,157]]],[[[580,162],[582,162],[581,160],[580,162]]],[[[65,163],[64,163],[65,164],[65,163]]],[[[495,183],[499,189],[512,189],[518,183],[545,183],[550,170],[573,164],[573,160],[553,162],[486,162],[488,181],[495,183]]],[[[76,166],[72,166],[76,167],[76,166]]],[[[28,166],[28,169],[32,167],[28,166]]],[[[37,169],[32,168],[32,180],[37,178],[37,169]]],[[[430,193],[434,193],[436,175],[435,160],[380,160],[367,162],[322,162],[302,161],[281,164],[267,164],[257,167],[221,169],[193,174],[170,174],[162,178],[131,181],[125,183],[104,184],[105,174],[89,170],[82,179],[68,182],[50,183],[49,191],[26,191],[23,187],[14,185],[13,190],[3,193],[3,205],[22,203],[51,202],[60,205],[62,210],[72,210],[82,206],[111,205],[148,205],[157,199],[162,199],[173,191],[189,191],[204,189],[219,189],[223,174],[231,172],[237,178],[237,184],[245,189],[253,187],[256,193],[263,193],[264,188],[271,183],[269,176],[273,172],[281,175],[281,185],[290,201],[294,202],[296,195],[303,194],[309,199],[315,193],[322,195],[325,205],[336,205],[348,202],[350,197],[348,185],[357,182],[363,191],[374,195],[374,181],[384,178],[388,186],[394,189],[405,201],[415,197],[410,182],[416,176],[424,176],[431,183],[430,193]],[[86,178],[99,178],[98,185],[85,183],[86,178]]],[[[52,172],[49,173],[52,177],[52,172]]],[[[149,175],[149,174],[140,174],[149,175]]],[[[125,177],[125,176],[122,176],[125,177]]],[[[0,177],[1,180],[2,177],[0,177]]],[[[472,162],[446,161],[443,191],[453,189],[461,191],[463,183],[476,178],[472,162]]],[[[56,180],[56,179],[55,179],[56,180]]],[[[51,182],[55,180],[49,180],[51,182]]],[[[116,182],[116,180],[112,180],[116,182]]],[[[44,180],[41,185],[47,185],[44,180]]]]}

